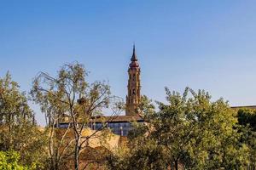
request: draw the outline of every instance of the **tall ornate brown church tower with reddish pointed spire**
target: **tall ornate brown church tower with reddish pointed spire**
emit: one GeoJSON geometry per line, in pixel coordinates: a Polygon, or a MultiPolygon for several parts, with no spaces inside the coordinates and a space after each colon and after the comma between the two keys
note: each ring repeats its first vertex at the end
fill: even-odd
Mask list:
{"type": "Polygon", "coordinates": [[[125,115],[132,116],[138,114],[137,108],[141,102],[141,70],[135,53],[135,45],[133,45],[133,53],[131,56],[128,74],[128,94],[126,95],[125,115]]]}

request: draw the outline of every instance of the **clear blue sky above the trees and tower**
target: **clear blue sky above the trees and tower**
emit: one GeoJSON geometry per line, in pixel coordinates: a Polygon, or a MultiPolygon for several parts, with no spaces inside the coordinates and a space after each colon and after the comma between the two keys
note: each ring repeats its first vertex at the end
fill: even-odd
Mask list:
{"type": "Polygon", "coordinates": [[[0,76],[24,91],[38,71],[79,61],[125,99],[133,42],[148,97],[189,86],[256,105],[256,1],[0,0],[0,76]]]}

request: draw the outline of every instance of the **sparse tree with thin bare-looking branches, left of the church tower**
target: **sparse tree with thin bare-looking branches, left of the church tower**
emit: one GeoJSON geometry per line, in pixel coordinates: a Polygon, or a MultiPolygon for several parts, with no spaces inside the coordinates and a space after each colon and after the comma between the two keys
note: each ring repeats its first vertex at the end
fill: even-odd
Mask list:
{"type": "MultiPolygon", "coordinates": [[[[58,169],[60,162],[69,156],[73,156],[74,169],[79,169],[79,154],[87,147],[87,141],[100,138],[99,130],[90,136],[83,136],[84,129],[90,127],[92,119],[102,115],[108,107],[112,109],[113,116],[121,111],[119,99],[111,95],[108,84],[90,84],[85,79],[87,76],[84,66],[74,63],[63,65],[57,77],[41,72],[33,82],[32,99],[41,105],[49,127],[52,169],[58,169]],[[55,128],[65,117],[67,128],[55,128]]],[[[105,127],[102,126],[102,129],[105,127]]]]}

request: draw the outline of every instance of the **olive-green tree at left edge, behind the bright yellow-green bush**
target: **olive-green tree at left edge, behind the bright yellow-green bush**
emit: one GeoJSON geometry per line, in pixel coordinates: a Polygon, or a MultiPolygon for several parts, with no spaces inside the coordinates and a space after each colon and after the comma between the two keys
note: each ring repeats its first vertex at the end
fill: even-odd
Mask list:
{"type": "Polygon", "coordinates": [[[9,72],[0,78],[0,150],[15,150],[25,165],[43,167],[46,151],[45,134],[33,117],[26,94],[20,93],[9,72]]]}

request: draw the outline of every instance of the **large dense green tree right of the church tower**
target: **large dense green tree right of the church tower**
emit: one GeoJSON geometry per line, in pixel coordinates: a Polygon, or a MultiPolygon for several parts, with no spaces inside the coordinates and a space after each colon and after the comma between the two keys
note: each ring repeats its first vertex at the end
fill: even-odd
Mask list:
{"type": "Polygon", "coordinates": [[[145,123],[131,130],[129,154],[121,157],[127,165],[133,162],[140,165],[138,169],[154,169],[156,165],[161,165],[157,169],[247,166],[250,148],[240,142],[236,112],[224,99],[212,102],[203,90],[195,93],[186,88],[179,94],[166,88],[166,100],[167,104],[157,102],[159,111],[144,112],[145,123]],[[159,159],[150,161],[152,156],[159,159]]]}

